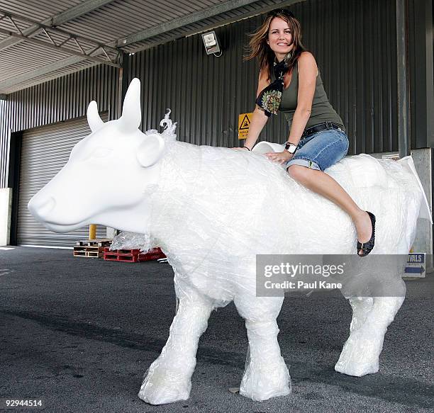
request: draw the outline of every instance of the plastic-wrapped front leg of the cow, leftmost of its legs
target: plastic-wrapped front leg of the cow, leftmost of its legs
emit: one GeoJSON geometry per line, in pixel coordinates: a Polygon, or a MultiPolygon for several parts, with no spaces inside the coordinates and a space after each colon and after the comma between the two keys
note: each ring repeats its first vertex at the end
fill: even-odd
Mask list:
{"type": "Polygon", "coordinates": [[[189,398],[199,337],[213,309],[211,300],[191,295],[179,299],[169,339],[140,387],[138,397],[147,403],[166,404],[189,398]]]}

